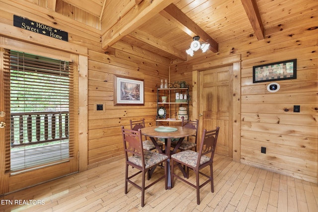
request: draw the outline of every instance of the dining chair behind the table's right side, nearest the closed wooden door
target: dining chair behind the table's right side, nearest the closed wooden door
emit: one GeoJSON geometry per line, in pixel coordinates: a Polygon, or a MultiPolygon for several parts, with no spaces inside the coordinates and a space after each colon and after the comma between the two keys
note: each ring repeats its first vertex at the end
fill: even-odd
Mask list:
{"type": "MultiPolygon", "coordinates": [[[[197,137],[198,137],[199,120],[196,119],[195,121],[185,121],[184,119],[182,119],[181,123],[182,123],[181,124],[182,127],[194,129],[195,135],[192,136],[192,140],[194,140],[194,141],[190,141],[189,137],[187,138],[187,140],[183,140],[179,146],[179,149],[181,151],[184,151],[184,150],[194,148],[194,150],[197,151],[197,137]]],[[[172,141],[171,146],[172,147],[176,146],[177,142],[178,141],[172,141]]]]}

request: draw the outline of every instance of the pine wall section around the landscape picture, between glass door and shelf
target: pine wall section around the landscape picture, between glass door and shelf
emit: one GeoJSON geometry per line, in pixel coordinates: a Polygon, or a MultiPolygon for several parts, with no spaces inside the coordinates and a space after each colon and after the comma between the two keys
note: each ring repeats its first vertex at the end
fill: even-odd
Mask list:
{"type": "Polygon", "coordinates": [[[157,84],[168,78],[168,65],[153,62],[146,55],[142,59],[135,48],[129,50],[130,45],[123,42],[115,47],[120,46],[127,47],[127,52],[88,52],[88,164],[123,155],[120,126],[129,127],[129,120],[145,118],[147,126],[156,125],[157,84]],[[145,105],[114,106],[114,75],[143,79],[145,105]],[[103,104],[105,110],[97,111],[96,104],[103,104]]]}

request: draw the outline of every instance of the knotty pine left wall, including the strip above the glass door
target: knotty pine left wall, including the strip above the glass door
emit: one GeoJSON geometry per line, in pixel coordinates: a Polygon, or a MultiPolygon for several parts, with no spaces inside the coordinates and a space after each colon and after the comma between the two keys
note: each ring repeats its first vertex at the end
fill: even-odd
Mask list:
{"type": "MultiPolygon", "coordinates": [[[[105,54],[101,49],[100,30],[87,26],[85,21],[80,23],[66,19],[67,14],[62,12],[63,6],[58,8],[61,9],[61,14],[52,13],[50,9],[38,6],[33,1],[25,1],[23,4],[19,1],[0,1],[0,23],[13,26],[13,14],[47,25],[52,25],[54,21],[54,27],[65,29],[69,33],[69,43],[88,49],[87,160],[88,167],[94,167],[105,159],[123,156],[120,126],[129,127],[130,119],[143,117],[148,126],[156,124],[157,84],[160,79],[168,79],[170,60],[137,47],[133,48],[124,42],[116,43],[109,54],[105,54]],[[114,106],[115,74],[144,80],[144,106],[114,106]],[[103,104],[104,110],[97,111],[96,104],[103,104]]],[[[22,32],[25,37],[38,36],[27,30],[22,32]]],[[[12,34],[8,32],[8,36],[14,37],[12,34]]],[[[41,36],[44,39],[45,37],[41,36]]],[[[52,47],[54,48],[53,44],[52,47]]]]}

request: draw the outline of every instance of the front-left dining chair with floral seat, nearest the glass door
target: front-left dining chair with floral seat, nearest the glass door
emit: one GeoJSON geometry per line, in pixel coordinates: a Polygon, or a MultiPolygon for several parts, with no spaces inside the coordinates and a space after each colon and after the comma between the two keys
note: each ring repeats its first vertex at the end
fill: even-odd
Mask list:
{"type": "MultiPolygon", "coordinates": [[[[164,189],[167,190],[167,159],[168,156],[160,154],[158,152],[150,151],[143,148],[141,129],[138,131],[126,130],[121,127],[124,149],[125,149],[125,160],[126,160],[126,172],[125,172],[125,194],[128,193],[128,183],[137,187],[141,190],[141,206],[145,206],[145,190],[155,185],[160,180],[164,179],[164,189]],[[164,163],[164,175],[158,176],[158,179],[153,180],[149,185],[145,185],[146,173],[151,168],[164,163]],[[129,166],[136,168],[139,171],[129,174],[129,166]],[[137,184],[140,179],[134,178],[142,174],[141,186],[137,184]],[[134,178],[134,180],[132,180],[134,178]]],[[[157,178],[157,177],[156,177],[157,178]]]]}

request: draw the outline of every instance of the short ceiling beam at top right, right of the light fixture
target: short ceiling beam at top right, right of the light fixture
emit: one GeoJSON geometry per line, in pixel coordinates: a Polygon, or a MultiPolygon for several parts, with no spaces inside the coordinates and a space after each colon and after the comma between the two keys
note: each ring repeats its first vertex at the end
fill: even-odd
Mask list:
{"type": "Polygon", "coordinates": [[[256,0],[241,0],[257,40],[264,39],[264,26],[260,17],[256,0]]]}

